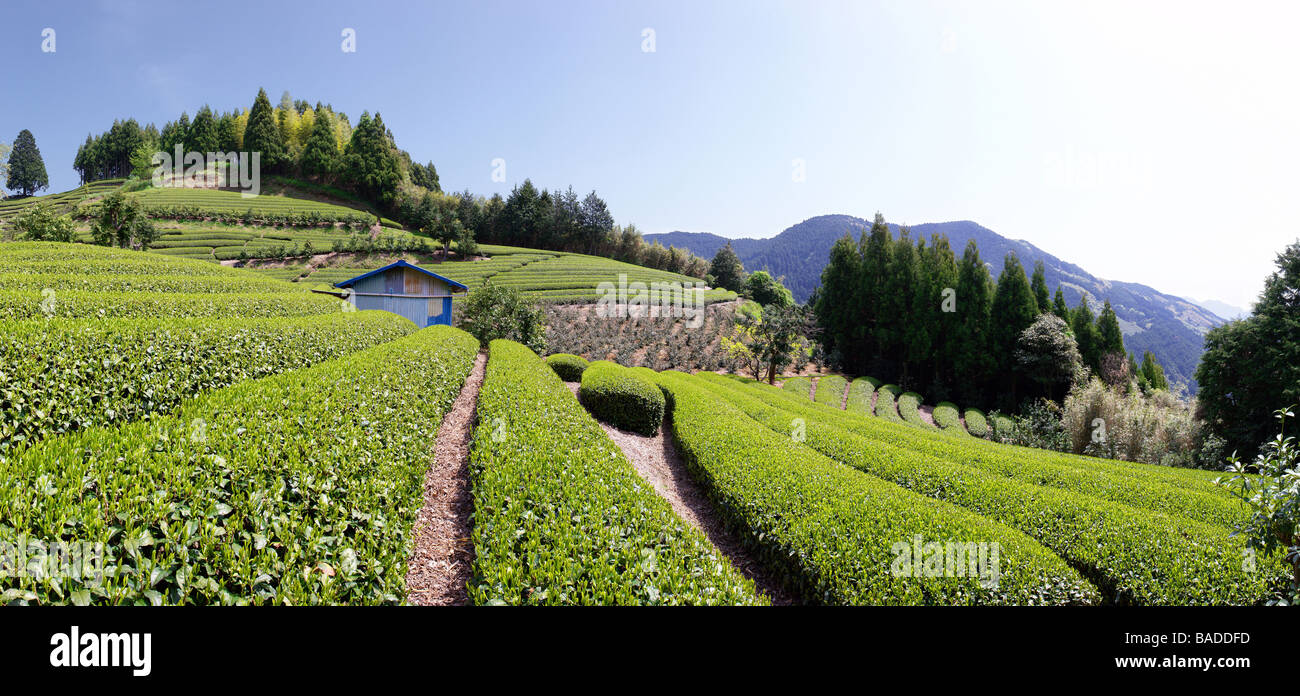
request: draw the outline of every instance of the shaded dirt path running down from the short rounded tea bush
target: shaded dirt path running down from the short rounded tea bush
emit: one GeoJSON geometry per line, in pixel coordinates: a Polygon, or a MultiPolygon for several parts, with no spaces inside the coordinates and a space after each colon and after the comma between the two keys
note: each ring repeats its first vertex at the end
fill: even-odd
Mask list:
{"type": "MultiPolygon", "coordinates": [[[[578,382],[564,384],[577,394],[578,382]]],[[[732,566],[753,580],[758,591],[766,595],[774,605],[798,604],[797,597],[790,595],[780,580],[754,558],[740,537],[727,528],[727,524],[714,510],[707,493],[690,476],[681,453],[677,451],[672,436],[668,435],[667,419],[654,437],[624,432],[604,423],[601,423],[601,428],[610,436],[610,440],[619,445],[637,474],[672,505],[672,511],[703,532],[714,542],[714,546],[731,561],[732,566]]]]}

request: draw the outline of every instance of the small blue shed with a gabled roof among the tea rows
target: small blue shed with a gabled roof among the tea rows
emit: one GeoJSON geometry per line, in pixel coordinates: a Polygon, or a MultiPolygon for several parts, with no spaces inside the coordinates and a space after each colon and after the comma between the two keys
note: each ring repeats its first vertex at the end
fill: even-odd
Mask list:
{"type": "Polygon", "coordinates": [[[358,310],[384,310],[402,315],[416,327],[451,324],[451,298],[468,290],[459,282],[406,261],[335,282],[347,290],[347,301],[358,310]]]}

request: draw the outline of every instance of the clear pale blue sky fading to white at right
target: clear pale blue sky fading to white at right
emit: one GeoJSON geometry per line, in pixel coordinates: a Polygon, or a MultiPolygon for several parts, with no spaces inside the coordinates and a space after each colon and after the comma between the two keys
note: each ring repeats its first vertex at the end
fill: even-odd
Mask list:
{"type": "Polygon", "coordinates": [[[0,22],[0,141],[30,129],[60,191],[114,117],[289,90],[381,112],[445,189],[529,177],[642,232],[727,237],[975,220],[1248,306],[1300,237],[1297,20],[1280,0],[29,3],[0,22]]]}

